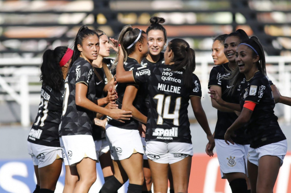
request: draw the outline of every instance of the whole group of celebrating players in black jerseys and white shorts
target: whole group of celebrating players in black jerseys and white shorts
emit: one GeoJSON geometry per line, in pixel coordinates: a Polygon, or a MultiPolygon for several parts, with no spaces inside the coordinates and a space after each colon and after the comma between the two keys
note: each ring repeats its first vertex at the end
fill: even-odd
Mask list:
{"type": "Polygon", "coordinates": [[[115,193],[187,193],[193,156],[189,101],[213,148],[221,178],[233,193],[271,193],[287,152],[275,103],[291,104],[268,79],[263,46],[239,29],[216,37],[209,94],[217,109],[212,134],[201,105],[195,51],[180,38],[167,42],[152,17],[145,31],[124,26],[118,39],[80,27],[72,49],[46,50],[41,102],[28,136],[37,185],[53,193],[65,164],[63,193],[87,193],[96,162],[115,193]],[[109,40],[112,44],[109,43],[109,40]],[[117,52],[110,59],[110,48],[117,52]],[[165,49],[165,52],[162,51],[165,49]],[[226,159],[227,158],[227,159],[226,159]]]}

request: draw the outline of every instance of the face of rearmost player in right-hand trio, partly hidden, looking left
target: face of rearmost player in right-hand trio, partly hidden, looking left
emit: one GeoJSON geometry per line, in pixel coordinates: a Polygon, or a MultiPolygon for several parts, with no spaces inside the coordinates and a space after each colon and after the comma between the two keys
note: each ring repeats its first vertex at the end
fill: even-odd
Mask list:
{"type": "Polygon", "coordinates": [[[220,65],[228,62],[224,52],[224,45],[219,40],[215,40],[212,44],[212,58],[214,65],[220,65]]]}

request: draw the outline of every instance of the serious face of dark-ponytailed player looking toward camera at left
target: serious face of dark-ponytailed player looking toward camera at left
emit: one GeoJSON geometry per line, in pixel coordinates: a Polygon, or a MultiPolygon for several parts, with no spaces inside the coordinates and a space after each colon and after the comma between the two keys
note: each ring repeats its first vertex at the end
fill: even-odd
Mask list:
{"type": "Polygon", "coordinates": [[[97,59],[100,50],[99,38],[97,35],[90,35],[83,39],[82,46],[78,44],[77,47],[81,53],[80,57],[92,63],[93,60],[97,59]]]}

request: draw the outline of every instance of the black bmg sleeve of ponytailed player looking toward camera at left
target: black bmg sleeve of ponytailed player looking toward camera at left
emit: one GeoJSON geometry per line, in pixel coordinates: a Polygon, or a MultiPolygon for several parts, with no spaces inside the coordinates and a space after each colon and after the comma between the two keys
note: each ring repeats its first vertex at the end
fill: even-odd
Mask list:
{"type": "Polygon", "coordinates": [[[76,65],[75,76],[77,83],[84,83],[88,86],[89,79],[92,77],[93,69],[89,62],[80,62],[80,64],[76,65]]]}

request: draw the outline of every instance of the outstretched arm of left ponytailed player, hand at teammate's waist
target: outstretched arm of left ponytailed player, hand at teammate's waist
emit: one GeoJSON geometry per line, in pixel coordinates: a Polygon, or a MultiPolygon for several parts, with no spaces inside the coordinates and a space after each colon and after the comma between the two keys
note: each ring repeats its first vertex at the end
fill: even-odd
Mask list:
{"type": "Polygon", "coordinates": [[[84,83],[77,83],[76,84],[76,95],[75,95],[75,102],[76,105],[83,107],[85,109],[88,109],[90,111],[94,111],[96,113],[100,113],[102,115],[107,115],[111,117],[112,119],[118,120],[120,122],[123,122],[122,120],[129,120],[132,115],[126,115],[130,114],[131,111],[123,111],[121,109],[106,109],[103,107],[100,107],[90,101],[87,97],[87,90],[88,86],[84,83]]]}

